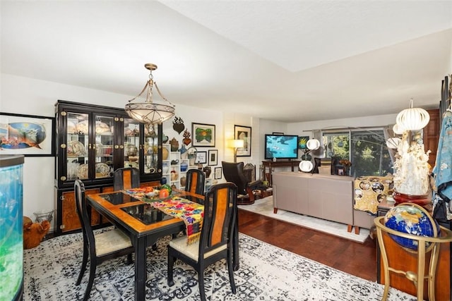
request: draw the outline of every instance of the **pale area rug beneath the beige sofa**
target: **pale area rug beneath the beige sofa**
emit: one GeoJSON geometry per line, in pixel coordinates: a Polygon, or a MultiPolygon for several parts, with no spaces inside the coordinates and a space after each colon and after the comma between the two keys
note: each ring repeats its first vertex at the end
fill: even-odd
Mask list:
{"type": "Polygon", "coordinates": [[[334,221],[326,221],[324,219],[316,219],[315,217],[296,214],[283,209],[278,209],[278,213],[273,213],[273,196],[264,197],[263,199],[256,199],[254,204],[239,205],[239,209],[255,212],[257,214],[265,215],[273,219],[287,221],[288,223],[295,223],[298,226],[303,226],[316,231],[347,238],[356,242],[364,242],[369,236],[369,230],[360,228],[359,234],[355,231],[347,232],[347,225],[344,223],[335,223],[334,221]]]}

